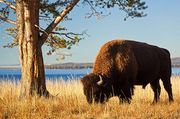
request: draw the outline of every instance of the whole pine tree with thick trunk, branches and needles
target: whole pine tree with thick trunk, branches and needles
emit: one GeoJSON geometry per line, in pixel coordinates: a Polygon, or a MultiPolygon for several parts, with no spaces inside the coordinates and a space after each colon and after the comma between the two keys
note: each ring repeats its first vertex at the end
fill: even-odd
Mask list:
{"type": "Polygon", "coordinates": [[[58,26],[69,20],[68,13],[78,6],[86,4],[90,8],[88,18],[104,15],[104,9],[118,8],[128,17],[143,17],[147,7],[141,0],[0,0],[0,22],[13,24],[7,29],[14,38],[6,47],[19,47],[21,64],[21,96],[33,95],[48,97],[46,89],[42,46],[51,47],[49,54],[59,48],[71,48],[81,40],[83,33],[73,33],[58,26]],[[16,20],[13,20],[16,14],[16,20]],[[47,28],[43,28],[46,22],[47,28]]]}

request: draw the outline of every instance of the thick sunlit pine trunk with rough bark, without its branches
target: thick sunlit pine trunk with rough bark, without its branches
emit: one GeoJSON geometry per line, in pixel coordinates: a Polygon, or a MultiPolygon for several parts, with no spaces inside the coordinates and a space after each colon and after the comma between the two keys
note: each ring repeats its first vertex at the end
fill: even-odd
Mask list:
{"type": "Polygon", "coordinates": [[[46,89],[39,30],[39,0],[16,0],[21,96],[49,96],[46,89]]]}

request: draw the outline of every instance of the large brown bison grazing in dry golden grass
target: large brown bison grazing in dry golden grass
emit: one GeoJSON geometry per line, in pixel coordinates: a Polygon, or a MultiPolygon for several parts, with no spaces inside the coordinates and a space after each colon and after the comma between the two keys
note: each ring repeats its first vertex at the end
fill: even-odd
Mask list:
{"type": "Polygon", "coordinates": [[[173,101],[170,77],[168,50],[136,41],[113,40],[102,46],[93,72],[84,76],[81,82],[89,103],[103,103],[112,96],[130,103],[134,85],[145,88],[149,83],[154,92],[153,102],[157,102],[161,90],[160,79],[169,101],[173,101]]]}

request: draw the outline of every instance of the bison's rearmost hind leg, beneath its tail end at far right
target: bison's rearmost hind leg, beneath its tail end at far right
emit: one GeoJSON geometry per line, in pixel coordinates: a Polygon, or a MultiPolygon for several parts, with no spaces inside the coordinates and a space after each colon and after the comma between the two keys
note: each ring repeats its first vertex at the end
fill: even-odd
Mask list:
{"type": "Polygon", "coordinates": [[[162,78],[162,81],[163,81],[164,88],[168,93],[169,102],[172,102],[173,101],[173,94],[172,94],[170,78],[162,78]]]}

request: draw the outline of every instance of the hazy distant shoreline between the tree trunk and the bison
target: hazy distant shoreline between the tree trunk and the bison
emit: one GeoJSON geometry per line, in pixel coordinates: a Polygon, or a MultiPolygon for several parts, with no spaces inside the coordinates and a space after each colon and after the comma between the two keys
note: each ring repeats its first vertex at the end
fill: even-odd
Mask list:
{"type": "Polygon", "coordinates": [[[46,69],[85,69],[92,68],[93,63],[63,63],[45,65],[46,69]]]}

